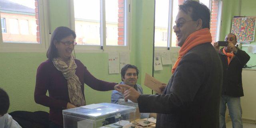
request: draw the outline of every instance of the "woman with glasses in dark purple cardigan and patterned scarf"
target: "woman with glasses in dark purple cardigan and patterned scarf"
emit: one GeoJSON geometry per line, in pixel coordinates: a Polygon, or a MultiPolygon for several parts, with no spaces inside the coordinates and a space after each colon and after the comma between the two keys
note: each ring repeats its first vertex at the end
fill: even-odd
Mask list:
{"type": "Polygon", "coordinates": [[[70,28],[56,28],[46,54],[48,60],[37,69],[34,99],[37,104],[50,108],[50,128],[63,128],[62,110],[86,105],[84,84],[98,91],[121,91],[118,84],[92,76],[86,66],[72,56],[75,38],[70,28]]]}

